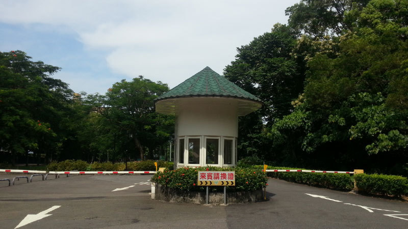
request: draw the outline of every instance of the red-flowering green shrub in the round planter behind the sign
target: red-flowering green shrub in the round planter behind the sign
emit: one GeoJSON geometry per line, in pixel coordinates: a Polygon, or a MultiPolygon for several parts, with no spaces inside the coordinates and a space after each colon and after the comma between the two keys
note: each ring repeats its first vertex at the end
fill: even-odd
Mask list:
{"type": "MultiPolygon", "coordinates": [[[[204,191],[204,186],[197,185],[198,171],[235,171],[235,186],[227,186],[227,191],[254,191],[266,187],[268,178],[261,169],[240,167],[182,167],[176,170],[164,170],[155,174],[151,181],[164,187],[186,190],[204,191]]],[[[211,186],[211,191],[221,191],[223,186],[211,186]]]]}

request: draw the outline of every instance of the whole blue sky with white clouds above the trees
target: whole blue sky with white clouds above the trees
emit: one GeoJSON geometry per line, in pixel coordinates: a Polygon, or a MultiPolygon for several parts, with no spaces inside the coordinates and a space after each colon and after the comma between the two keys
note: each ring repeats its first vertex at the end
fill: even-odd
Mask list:
{"type": "Polygon", "coordinates": [[[0,51],[61,67],[74,92],[105,92],[143,75],[174,88],[209,66],[223,75],[237,47],[287,23],[300,0],[2,0],[0,51]]]}

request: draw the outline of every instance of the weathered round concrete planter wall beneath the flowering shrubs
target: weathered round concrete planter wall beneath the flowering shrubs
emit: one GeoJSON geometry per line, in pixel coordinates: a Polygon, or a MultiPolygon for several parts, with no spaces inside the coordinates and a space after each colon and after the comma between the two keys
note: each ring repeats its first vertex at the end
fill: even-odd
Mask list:
{"type": "MultiPolygon", "coordinates": [[[[264,200],[262,189],[256,191],[227,192],[226,196],[227,204],[260,202],[264,200]]],[[[206,192],[182,191],[157,184],[155,199],[172,203],[206,204],[206,192]]],[[[209,193],[209,204],[218,205],[223,203],[223,192],[209,193]]]]}

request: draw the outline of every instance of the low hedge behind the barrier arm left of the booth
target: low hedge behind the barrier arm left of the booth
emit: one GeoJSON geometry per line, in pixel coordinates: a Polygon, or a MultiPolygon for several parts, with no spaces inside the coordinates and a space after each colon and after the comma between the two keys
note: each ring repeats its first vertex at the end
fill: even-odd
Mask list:
{"type": "MultiPolygon", "coordinates": [[[[127,162],[127,170],[129,171],[156,171],[155,162],[153,160],[131,161],[127,162]]],[[[47,165],[48,171],[124,171],[124,163],[111,162],[93,162],[91,164],[82,160],[65,160],[60,162],[52,162],[47,165]]],[[[173,162],[159,161],[158,167],[173,169],[173,162]]]]}

